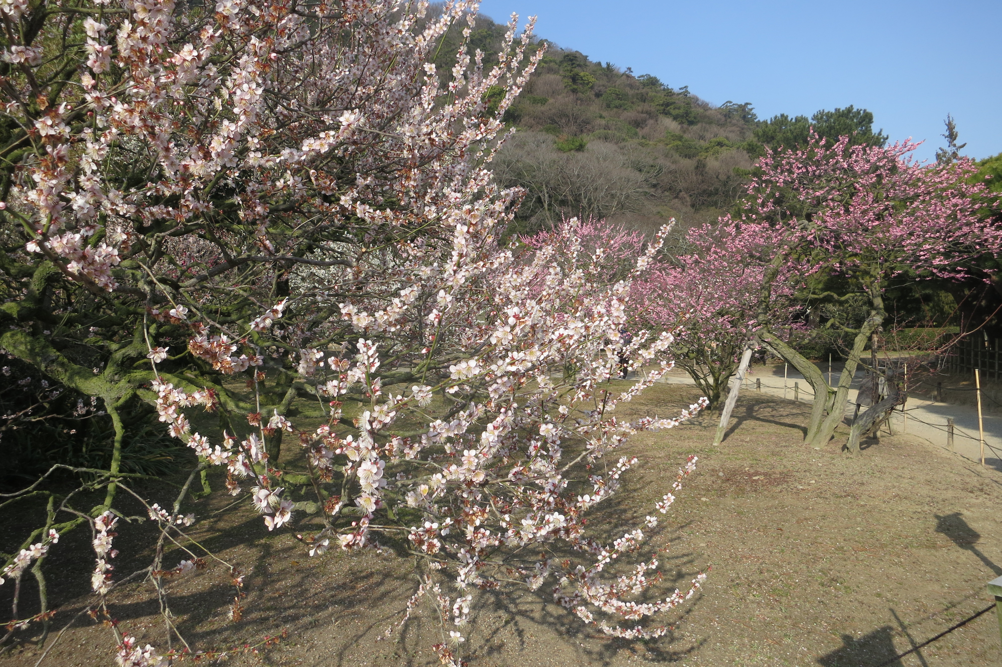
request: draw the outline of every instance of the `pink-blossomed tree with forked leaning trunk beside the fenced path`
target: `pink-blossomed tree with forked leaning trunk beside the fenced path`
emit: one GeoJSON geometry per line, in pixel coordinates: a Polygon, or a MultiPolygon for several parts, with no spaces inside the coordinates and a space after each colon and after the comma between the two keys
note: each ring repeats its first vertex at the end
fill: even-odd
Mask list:
{"type": "MultiPolygon", "coordinates": [[[[849,137],[826,146],[812,135],[801,150],[767,152],[760,173],[748,184],[739,215],[721,224],[768,251],[748,254],[763,267],[756,321],[760,339],[804,374],[816,397],[807,440],[813,445],[831,439],[842,422],[852,378],[862,352],[884,322],[884,290],[902,275],[963,277],[972,260],[994,252],[1002,231],[979,219],[985,193],[980,183],[967,182],[975,167],[966,160],[949,165],[925,165],[909,157],[916,144],[850,146],[849,137]],[[765,243],[763,241],[766,241],[765,243]],[[838,277],[843,290],[822,290],[811,299],[849,298],[866,294],[869,313],[854,329],[833,321],[854,336],[845,371],[836,387],[778,333],[773,307],[809,275],[838,277]]],[[[860,428],[872,424],[892,405],[876,406],[861,416],[860,428]]],[[[860,428],[850,449],[858,446],[860,428]]]]}

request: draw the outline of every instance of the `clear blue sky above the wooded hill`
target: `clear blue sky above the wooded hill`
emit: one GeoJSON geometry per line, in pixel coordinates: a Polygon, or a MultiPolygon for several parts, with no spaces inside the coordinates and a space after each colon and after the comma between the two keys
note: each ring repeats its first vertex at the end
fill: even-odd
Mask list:
{"type": "Polygon", "coordinates": [[[484,0],[481,12],[539,17],[536,34],[592,60],[653,74],[760,118],[853,104],[891,140],[926,140],[953,115],[964,153],[1002,152],[999,0],[484,0]]]}

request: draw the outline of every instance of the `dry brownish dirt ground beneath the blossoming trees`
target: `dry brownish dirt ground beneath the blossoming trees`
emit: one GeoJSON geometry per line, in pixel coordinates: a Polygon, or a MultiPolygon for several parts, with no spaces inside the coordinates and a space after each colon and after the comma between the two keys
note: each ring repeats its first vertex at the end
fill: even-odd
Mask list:
{"type": "MultiPolygon", "coordinates": [[[[668,416],[694,397],[691,388],[657,385],[619,410],[627,418],[668,416]]],[[[985,584],[1002,575],[1002,472],[910,436],[865,443],[855,457],[840,452],[844,434],[813,449],[802,443],[809,409],[745,395],[719,448],[709,445],[708,420],[629,444],[625,453],[639,456],[642,466],[596,518],[605,530],[642,519],[685,457],[700,459],[652,541],[670,543],[661,568],[679,588],[711,567],[701,594],[670,619],[671,634],[650,642],[605,638],[553,604],[546,586],[539,594],[483,593],[466,644],[470,666],[877,667],[987,606],[985,584]]],[[[377,641],[414,591],[409,560],[389,551],[311,559],[289,533],[270,534],[246,509],[210,514],[228,502],[212,496],[186,511],[199,516],[196,535],[206,546],[247,573],[246,613],[239,622],[228,619],[232,589],[222,567],[171,582],[174,622],[196,648],[256,644],[286,629],[277,645],[226,664],[438,664],[429,645],[439,641],[439,630],[427,615],[419,614],[402,637],[377,641]]],[[[123,562],[116,574],[141,567],[122,545],[141,542],[144,530],[118,531],[123,562]]],[[[54,550],[52,558],[70,551],[54,550]]],[[[56,632],[87,604],[81,586],[92,567],[61,558],[53,561],[65,573],[52,584],[61,605],[56,632]]],[[[123,629],[163,648],[163,621],[148,584],[126,585],[114,601],[123,629]]],[[[112,656],[110,631],[84,615],[43,664],[111,665],[112,656]]],[[[0,667],[34,665],[38,657],[37,647],[24,645],[0,659],[0,667]]],[[[989,612],[889,664],[1000,661],[999,626],[989,612]]]]}

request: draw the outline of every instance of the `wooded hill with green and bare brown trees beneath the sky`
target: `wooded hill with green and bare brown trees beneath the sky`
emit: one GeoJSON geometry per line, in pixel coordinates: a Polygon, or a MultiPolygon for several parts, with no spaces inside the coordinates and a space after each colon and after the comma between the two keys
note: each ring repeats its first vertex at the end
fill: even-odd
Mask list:
{"type": "MultiPolygon", "coordinates": [[[[505,29],[478,17],[472,47],[496,53],[505,29]]],[[[454,53],[450,42],[458,39],[457,28],[440,53],[454,53]]],[[[887,139],[873,131],[873,114],[852,106],[762,121],[750,102],[713,106],[688,86],[593,62],[546,40],[537,45],[546,55],[505,116],[519,131],[495,163],[501,183],[527,192],[519,231],[561,215],[606,217],[645,231],[669,217],[682,225],[715,219],[735,201],[764,145],[798,144],[811,125],[826,136],[887,139]]],[[[445,56],[437,64],[452,65],[445,56]]]]}

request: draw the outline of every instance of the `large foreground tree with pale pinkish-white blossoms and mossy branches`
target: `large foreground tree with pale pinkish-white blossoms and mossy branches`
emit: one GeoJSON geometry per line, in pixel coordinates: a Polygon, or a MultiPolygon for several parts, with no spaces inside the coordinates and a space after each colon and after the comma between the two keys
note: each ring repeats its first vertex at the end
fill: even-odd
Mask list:
{"type": "MultiPolygon", "coordinates": [[[[451,619],[443,663],[459,664],[476,592],[517,581],[548,584],[609,635],[663,633],[639,621],[702,575],[638,602],[657,561],[623,571],[618,557],[642,549],[645,527],[603,544],[583,517],[636,465],[616,453],[630,435],[701,404],[677,419],[612,415],[669,368],[671,336],[639,331],[625,353],[642,380],[606,385],[631,282],[660,237],[616,281],[573,225],[522,254],[496,241],[519,193],[488,167],[541,55],[531,24],[519,34],[513,18],[490,59],[464,41],[440,72],[442,35],[459,24],[468,37],[475,3],[434,15],[394,0],[211,9],[0,2],[0,345],[98,397],[114,426],[107,468],[70,471],[105,489],[103,504],[81,511],[44,479],[9,495],[50,504],[6,578],[19,586],[29,566],[42,577],[59,533],[87,524],[107,614],[125,579],[111,566],[124,490],[161,530],[154,561],[128,576],[148,578],[168,609],[170,578],[205,563],[184,498],[218,466],[228,493],[312,555],[408,545],[423,569],[402,621],[425,600],[451,619]],[[198,458],[167,509],[120,468],[125,417],[143,406],[198,458]],[[194,432],[198,410],[218,429],[194,432]],[[170,541],[187,550],[172,568],[170,541]]],[[[46,605],[19,619],[15,603],[15,626],[47,622],[46,605]]],[[[140,647],[112,628],[122,665],[166,664],[184,642],[172,630],[163,648],[140,647]]]]}

